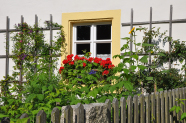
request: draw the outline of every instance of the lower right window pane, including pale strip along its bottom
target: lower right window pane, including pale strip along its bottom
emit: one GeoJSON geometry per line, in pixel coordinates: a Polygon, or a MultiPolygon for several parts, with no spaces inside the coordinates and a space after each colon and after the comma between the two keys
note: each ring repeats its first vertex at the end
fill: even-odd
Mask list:
{"type": "Polygon", "coordinates": [[[97,43],[96,57],[102,58],[103,60],[111,58],[111,43],[97,43]]]}

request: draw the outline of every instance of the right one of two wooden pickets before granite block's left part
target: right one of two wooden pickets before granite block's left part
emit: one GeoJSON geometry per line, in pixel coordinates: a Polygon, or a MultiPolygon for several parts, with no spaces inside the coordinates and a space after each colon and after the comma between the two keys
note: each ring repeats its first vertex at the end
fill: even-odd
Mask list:
{"type": "Polygon", "coordinates": [[[75,122],[84,123],[84,107],[81,103],[78,103],[75,109],[75,122]]]}

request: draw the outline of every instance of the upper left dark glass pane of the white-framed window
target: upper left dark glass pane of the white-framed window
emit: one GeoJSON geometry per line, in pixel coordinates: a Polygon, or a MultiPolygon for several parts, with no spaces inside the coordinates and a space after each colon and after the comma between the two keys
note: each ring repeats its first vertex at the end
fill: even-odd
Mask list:
{"type": "Polygon", "coordinates": [[[90,40],[90,25],[77,26],[77,40],[90,40]]]}

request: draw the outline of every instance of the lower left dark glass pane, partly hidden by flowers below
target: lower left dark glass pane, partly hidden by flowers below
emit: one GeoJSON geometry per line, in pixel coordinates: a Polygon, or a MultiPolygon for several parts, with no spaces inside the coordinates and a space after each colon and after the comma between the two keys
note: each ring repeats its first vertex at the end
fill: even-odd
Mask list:
{"type": "Polygon", "coordinates": [[[86,52],[90,52],[90,44],[77,44],[77,55],[84,54],[83,51],[86,50],[86,52]],[[83,50],[83,51],[82,51],[83,50]]]}

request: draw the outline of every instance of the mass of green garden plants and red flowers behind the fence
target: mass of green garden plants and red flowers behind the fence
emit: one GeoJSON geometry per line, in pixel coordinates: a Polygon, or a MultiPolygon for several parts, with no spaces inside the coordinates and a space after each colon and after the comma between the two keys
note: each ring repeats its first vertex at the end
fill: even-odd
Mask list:
{"type": "MultiPolygon", "coordinates": [[[[48,25],[61,27],[62,29],[62,26],[58,24],[49,22],[46,23],[48,25]]],[[[50,122],[50,114],[54,107],[58,107],[59,110],[61,110],[61,107],[65,105],[74,105],[77,103],[89,104],[95,102],[103,103],[106,99],[113,100],[114,98],[127,98],[128,95],[133,96],[137,94],[135,89],[136,87],[142,86],[143,88],[148,89],[147,86],[149,83],[153,85],[156,83],[155,85],[157,88],[170,88],[171,85],[168,85],[169,83],[162,82],[162,84],[168,85],[162,86],[162,84],[158,83],[156,75],[152,76],[151,73],[148,73],[148,71],[147,74],[145,74],[144,71],[148,70],[148,68],[156,68],[156,65],[160,65],[160,63],[164,62],[162,60],[165,60],[167,57],[171,57],[171,59],[173,59],[173,57],[180,59],[185,58],[184,55],[186,50],[184,47],[180,47],[181,45],[176,41],[175,51],[171,52],[174,55],[161,51],[161,53],[158,54],[160,57],[157,57],[157,63],[153,63],[154,66],[144,65],[148,63],[147,55],[139,59],[137,53],[141,52],[142,49],[138,50],[137,52],[125,52],[123,55],[113,56],[113,58],[119,58],[122,60],[121,63],[115,66],[112,64],[110,59],[102,60],[99,58],[89,57],[90,52],[85,53],[84,57],[75,56],[74,59],[72,59],[73,54],[71,54],[68,55],[65,60],[63,60],[64,66],[59,68],[59,74],[56,76],[53,74],[53,71],[56,68],[54,65],[56,59],[53,61],[52,58],[52,62],[50,62],[51,58],[49,51],[52,50],[52,54],[55,54],[55,52],[59,52],[62,47],[63,51],[60,52],[65,53],[66,44],[64,32],[61,31],[58,33],[59,36],[56,37],[56,42],[53,42],[53,45],[49,46],[45,44],[44,35],[40,28],[36,25],[31,27],[28,26],[28,24],[23,23],[18,24],[16,28],[21,29],[21,32],[16,33],[12,37],[12,39],[16,41],[13,53],[18,55],[18,57],[14,58],[14,62],[16,64],[14,68],[21,69],[20,65],[23,66],[22,71],[26,75],[25,77],[26,80],[28,80],[28,83],[25,83],[24,86],[17,85],[16,82],[18,81],[15,79],[15,77],[19,75],[18,72],[15,72],[13,77],[9,76],[8,79],[2,80],[2,88],[9,87],[9,84],[6,84],[8,80],[15,81],[14,87],[12,89],[8,89],[4,95],[1,95],[1,99],[4,104],[0,106],[2,110],[0,117],[9,117],[12,123],[16,121],[20,122],[20,120],[18,121],[18,118],[23,113],[27,113],[30,121],[34,122],[35,116],[40,110],[44,110],[47,113],[47,122],[50,122]],[[182,48],[182,50],[179,50],[178,48],[182,48]],[[35,49],[38,49],[37,53],[41,54],[41,59],[39,59],[40,62],[37,64],[36,73],[34,73],[34,67],[36,65],[35,60],[38,58],[35,59],[33,55],[35,49]],[[177,54],[181,55],[178,56],[177,54]],[[129,55],[129,58],[126,58],[126,55],[129,55]],[[137,62],[137,65],[134,65],[134,62],[137,62]],[[139,64],[139,62],[142,64],[139,64]],[[126,63],[131,63],[132,65],[127,68],[126,63]],[[52,66],[50,69],[51,78],[48,76],[49,64],[52,66]],[[138,68],[138,73],[135,73],[136,68],[138,68]],[[118,73],[120,74],[118,75],[118,73]],[[134,79],[134,76],[136,76],[136,79],[134,79]],[[139,78],[141,76],[143,77],[139,79],[138,76],[139,78]],[[80,83],[78,83],[78,81],[80,83]],[[85,86],[82,86],[82,84],[85,86]],[[11,95],[12,92],[17,92],[18,95],[11,95]],[[24,95],[25,99],[22,98],[22,95],[24,95]],[[79,95],[82,99],[78,99],[77,95],[79,95]],[[22,100],[24,100],[24,103],[22,100]],[[60,105],[56,106],[56,102],[60,102],[60,105]]],[[[147,29],[140,27],[136,29],[136,31],[138,30],[146,31],[147,29]]],[[[154,51],[152,48],[154,44],[148,44],[147,41],[152,39],[153,36],[164,35],[164,33],[160,34],[159,30],[157,32],[147,31],[145,33],[144,42],[135,43],[136,31],[135,28],[133,28],[129,32],[134,36],[135,46],[141,46],[145,49],[145,52],[151,52],[153,54],[154,51]],[[149,47],[151,49],[149,49],[149,47]]],[[[129,49],[129,42],[133,40],[130,40],[128,37],[123,39],[127,40],[127,44],[122,46],[121,51],[126,51],[129,49]]],[[[182,68],[185,69],[185,66],[182,66],[182,68]]],[[[168,72],[171,73],[169,70],[161,71],[160,73],[162,74],[168,72]]],[[[182,85],[184,86],[184,84],[182,85]]],[[[180,87],[180,84],[175,84],[174,87],[178,86],[180,87]]],[[[152,87],[153,86],[150,86],[148,92],[154,91],[152,87]]],[[[22,120],[27,119],[28,118],[24,118],[22,120]]]]}

